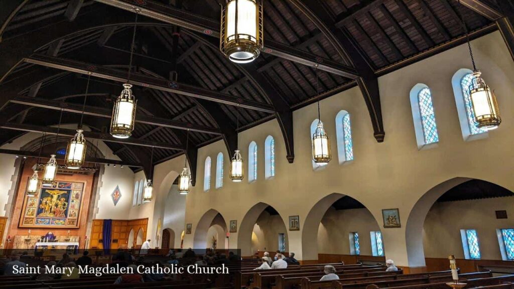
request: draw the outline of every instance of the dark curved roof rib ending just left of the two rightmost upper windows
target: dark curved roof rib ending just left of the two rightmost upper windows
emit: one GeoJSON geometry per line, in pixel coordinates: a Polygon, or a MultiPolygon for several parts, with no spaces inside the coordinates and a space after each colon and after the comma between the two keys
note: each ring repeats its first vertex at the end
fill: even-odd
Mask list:
{"type": "Polygon", "coordinates": [[[383,128],[382,110],[380,105],[380,93],[378,79],[375,71],[365,60],[364,56],[357,50],[357,46],[350,38],[350,35],[336,27],[332,14],[319,0],[290,0],[305,16],[313,21],[325,35],[342,58],[351,59],[357,69],[359,78],[356,79],[373,126],[373,136],[377,142],[383,142],[386,133],[383,128]]]}

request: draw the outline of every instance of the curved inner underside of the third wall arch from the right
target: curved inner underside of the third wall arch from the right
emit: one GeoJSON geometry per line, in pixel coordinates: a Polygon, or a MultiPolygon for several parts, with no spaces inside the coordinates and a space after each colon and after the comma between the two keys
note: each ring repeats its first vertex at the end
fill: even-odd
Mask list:
{"type": "MultiPolygon", "coordinates": [[[[251,256],[253,254],[251,250],[253,227],[257,223],[261,213],[269,206],[270,205],[266,203],[257,203],[253,205],[253,207],[251,207],[243,217],[243,220],[237,229],[237,248],[241,250],[241,256],[251,256]]],[[[280,214],[280,212],[279,215],[282,222],[284,222],[284,218],[282,218],[282,214],[280,214]]],[[[284,224],[286,224],[286,222],[284,222],[284,224]]],[[[286,240],[288,240],[287,227],[285,235],[286,240]]]]}

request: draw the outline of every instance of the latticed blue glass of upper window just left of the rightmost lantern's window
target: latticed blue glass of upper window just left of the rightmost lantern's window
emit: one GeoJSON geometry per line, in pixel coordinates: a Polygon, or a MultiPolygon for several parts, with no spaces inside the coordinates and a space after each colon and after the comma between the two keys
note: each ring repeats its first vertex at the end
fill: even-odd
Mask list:
{"type": "Polygon", "coordinates": [[[428,144],[439,141],[437,125],[435,123],[434,106],[432,105],[432,96],[428,87],[419,91],[418,103],[419,112],[421,114],[421,123],[423,124],[423,134],[425,135],[425,143],[428,144]]]}

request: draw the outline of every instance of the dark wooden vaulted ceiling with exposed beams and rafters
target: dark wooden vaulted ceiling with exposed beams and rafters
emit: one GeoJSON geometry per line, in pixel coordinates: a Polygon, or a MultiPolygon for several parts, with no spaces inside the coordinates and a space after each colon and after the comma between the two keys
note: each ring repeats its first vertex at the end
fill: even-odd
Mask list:
{"type": "MultiPolygon", "coordinates": [[[[465,4],[485,0],[462,0],[465,4]]],[[[374,137],[383,141],[377,77],[494,31],[497,24],[457,0],[265,0],[264,49],[251,64],[219,52],[219,0],[10,0],[0,12],[0,145],[23,133],[80,120],[145,171],[186,148],[224,140],[277,118],[287,158],[294,158],[292,111],[359,86],[374,137]],[[113,100],[134,47],[138,99],[131,141],[108,135],[113,100]],[[465,19],[466,29],[460,20],[465,19]],[[176,75],[176,79],[174,78],[176,75]],[[148,164],[150,147],[153,164],[148,164]]],[[[496,2],[485,1],[491,7],[496,2]]],[[[371,138],[372,136],[370,136],[371,138]]]]}

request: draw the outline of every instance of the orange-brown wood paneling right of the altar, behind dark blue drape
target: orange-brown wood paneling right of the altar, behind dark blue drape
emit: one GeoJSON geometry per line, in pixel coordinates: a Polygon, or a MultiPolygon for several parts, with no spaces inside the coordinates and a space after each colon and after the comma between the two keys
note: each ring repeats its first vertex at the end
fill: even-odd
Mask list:
{"type": "MultiPolygon", "coordinates": [[[[93,227],[91,228],[91,240],[89,241],[89,248],[103,249],[103,221],[93,220],[93,227]]],[[[148,227],[148,218],[136,220],[113,220],[113,228],[111,231],[111,249],[126,249],[128,245],[128,234],[134,230],[134,247],[136,246],[137,232],[143,230],[143,240],[146,240],[146,229],[148,227]]]]}

